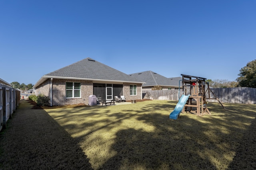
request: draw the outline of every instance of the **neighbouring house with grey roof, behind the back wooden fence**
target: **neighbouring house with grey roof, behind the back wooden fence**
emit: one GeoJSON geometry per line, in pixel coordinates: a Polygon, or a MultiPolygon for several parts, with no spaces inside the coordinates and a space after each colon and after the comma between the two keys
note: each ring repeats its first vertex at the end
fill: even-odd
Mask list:
{"type": "Polygon", "coordinates": [[[167,78],[152,71],[137,72],[129,75],[146,82],[146,84],[142,85],[143,90],[152,90],[154,86],[161,86],[162,90],[178,89],[179,80],[182,80],[182,77],[167,78]]]}

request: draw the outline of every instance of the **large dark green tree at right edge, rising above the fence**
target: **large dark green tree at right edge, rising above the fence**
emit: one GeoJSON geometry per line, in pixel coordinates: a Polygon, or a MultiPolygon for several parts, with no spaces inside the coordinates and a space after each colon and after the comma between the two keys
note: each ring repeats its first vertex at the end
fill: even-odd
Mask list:
{"type": "Polygon", "coordinates": [[[256,60],[250,61],[240,69],[236,81],[238,87],[251,87],[256,88],[256,60]]]}

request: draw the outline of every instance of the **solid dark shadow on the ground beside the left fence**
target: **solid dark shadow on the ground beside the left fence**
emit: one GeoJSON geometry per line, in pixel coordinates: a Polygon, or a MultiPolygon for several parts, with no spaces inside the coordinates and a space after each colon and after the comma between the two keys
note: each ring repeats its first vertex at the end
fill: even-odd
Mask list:
{"type": "Polygon", "coordinates": [[[92,169],[78,141],[42,109],[22,101],[1,134],[0,169],[92,169]]]}

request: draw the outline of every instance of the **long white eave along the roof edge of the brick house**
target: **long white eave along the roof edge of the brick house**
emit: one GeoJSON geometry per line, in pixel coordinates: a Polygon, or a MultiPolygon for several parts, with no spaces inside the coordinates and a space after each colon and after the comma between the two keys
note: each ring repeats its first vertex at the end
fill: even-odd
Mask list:
{"type": "Polygon", "coordinates": [[[145,84],[145,82],[132,82],[132,81],[122,81],[122,80],[101,80],[101,79],[93,79],[93,78],[77,78],[77,77],[60,77],[60,76],[42,76],[38,82],[33,86],[36,88],[48,78],[56,78],[56,79],[70,79],[70,80],[89,80],[89,81],[96,81],[96,82],[117,82],[117,83],[137,83],[137,84],[145,84]]]}

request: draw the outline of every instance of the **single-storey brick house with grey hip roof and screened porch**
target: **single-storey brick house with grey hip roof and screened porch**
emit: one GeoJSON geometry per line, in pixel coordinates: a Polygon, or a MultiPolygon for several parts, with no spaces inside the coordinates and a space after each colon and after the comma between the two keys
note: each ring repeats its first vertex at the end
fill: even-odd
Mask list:
{"type": "Polygon", "coordinates": [[[61,106],[88,104],[92,94],[99,102],[121,95],[126,100],[140,100],[143,84],[137,78],[86,58],[42,76],[34,89],[36,95],[48,96],[51,106],[61,106]]]}

